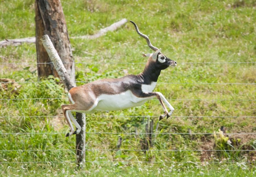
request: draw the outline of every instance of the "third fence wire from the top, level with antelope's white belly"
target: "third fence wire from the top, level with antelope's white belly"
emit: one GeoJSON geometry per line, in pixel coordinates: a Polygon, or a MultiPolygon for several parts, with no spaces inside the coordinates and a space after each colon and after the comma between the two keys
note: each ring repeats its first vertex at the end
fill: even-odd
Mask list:
{"type": "MultiPolygon", "coordinates": [[[[68,99],[68,98],[1,98],[0,100],[34,100],[34,99],[68,99]]],[[[150,100],[158,100],[158,99],[150,99],[150,100]]],[[[167,100],[256,101],[255,99],[167,99],[167,100]]]]}

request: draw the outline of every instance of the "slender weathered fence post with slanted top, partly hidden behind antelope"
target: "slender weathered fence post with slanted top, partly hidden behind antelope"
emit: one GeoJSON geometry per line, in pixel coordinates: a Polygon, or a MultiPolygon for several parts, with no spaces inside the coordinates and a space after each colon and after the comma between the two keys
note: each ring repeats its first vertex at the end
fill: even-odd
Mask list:
{"type": "MultiPolygon", "coordinates": [[[[51,42],[48,35],[42,36],[40,39],[44,45],[44,48],[46,49],[51,62],[53,63],[53,66],[55,70],[57,71],[60,79],[63,81],[65,87],[70,90],[71,88],[75,87],[75,84],[71,81],[69,74],[67,73],[56,49],[53,46],[53,43],[51,42]]],[[[79,134],[76,134],[76,149],[77,149],[77,165],[79,167],[82,167],[85,164],[85,114],[82,113],[76,113],[76,119],[79,125],[81,126],[81,131],[79,134]]]]}

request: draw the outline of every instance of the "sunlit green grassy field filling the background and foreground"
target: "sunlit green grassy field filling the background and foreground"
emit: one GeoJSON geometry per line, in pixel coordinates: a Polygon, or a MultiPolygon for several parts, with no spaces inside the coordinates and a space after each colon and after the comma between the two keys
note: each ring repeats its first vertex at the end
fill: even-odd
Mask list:
{"type": "MultiPolygon", "coordinates": [[[[177,61],[175,68],[161,72],[158,82],[245,83],[158,83],[154,91],[160,91],[167,99],[211,100],[170,100],[175,109],[173,116],[176,117],[161,120],[157,130],[158,118],[150,117],[162,113],[157,100],[123,111],[97,112],[86,118],[87,132],[145,132],[145,124],[150,117],[154,121],[153,129],[156,133],[186,133],[188,129],[193,133],[212,133],[218,132],[220,126],[225,126],[227,133],[256,133],[256,120],[252,117],[256,116],[256,104],[253,101],[256,99],[255,85],[252,84],[256,83],[255,63],[186,64],[255,62],[254,0],[62,0],[61,3],[69,36],[94,34],[100,28],[122,18],[136,22],[153,45],[162,48],[162,53],[177,61]]],[[[0,0],[0,41],[35,36],[34,16],[34,0],[0,0]]],[[[146,62],[141,54],[152,52],[128,22],[118,30],[97,39],[70,40],[76,62],[135,63],[76,64],[77,81],[139,74],[143,71],[144,64],[136,63],[146,62]]],[[[35,63],[36,46],[24,43],[1,47],[0,62],[35,63]]],[[[36,64],[0,64],[0,67],[0,78],[10,78],[16,82],[33,82],[38,79],[36,64]]],[[[42,81],[56,80],[53,77],[42,78],[42,81]]],[[[75,150],[72,150],[75,149],[75,136],[66,138],[65,134],[1,134],[68,132],[60,109],[61,104],[68,102],[62,85],[55,82],[18,83],[17,91],[14,91],[14,87],[9,84],[0,88],[0,99],[62,99],[0,100],[0,176],[255,176],[255,134],[230,134],[228,138],[218,135],[214,138],[209,134],[155,134],[153,146],[147,152],[86,151],[86,161],[162,163],[88,162],[80,170],[76,170],[75,163],[71,162],[7,163],[75,161],[75,150]],[[167,149],[188,151],[153,151],[167,149]],[[222,151],[189,151],[198,149],[222,151]]],[[[141,149],[140,140],[145,138],[143,134],[87,134],[86,149],[117,149],[118,136],[122,137],[120,149],[141,149]]]]}

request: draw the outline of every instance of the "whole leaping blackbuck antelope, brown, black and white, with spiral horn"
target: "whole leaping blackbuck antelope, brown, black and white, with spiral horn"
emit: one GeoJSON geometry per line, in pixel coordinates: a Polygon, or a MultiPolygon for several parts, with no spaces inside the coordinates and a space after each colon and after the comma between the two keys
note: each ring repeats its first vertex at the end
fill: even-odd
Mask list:
{"type": "Polygon", "coordinates": [[[176,66],[176,62],[162,54],[160,49],[151,44],[148,36],[142,34],[134,22],[130,22],[135,26],[136,32],[146,39],[148,46],[155,52],[143,54],[144,57],[148,57],[148,61],[143,72],[138,75],[96,80],[70,89],[68,93],[70,105],[61,105],[63,115],[70,128],[70,132],[66,136],[79,134],[81,130],[71,111],[80,113],[117,111],[143,105],[147,100],[156,97],[164,109],[164,114],[160,115],[159,120],[165,116],[168,118],[172,115],[174,108],[168,103],[163,94],[152,91],[156,86],[161,70],[169,66],[176,66]],[[164,103],[170,111],[168,111],[164,103]],[[76,131],[71,121],[75,124],[76,131]]]}

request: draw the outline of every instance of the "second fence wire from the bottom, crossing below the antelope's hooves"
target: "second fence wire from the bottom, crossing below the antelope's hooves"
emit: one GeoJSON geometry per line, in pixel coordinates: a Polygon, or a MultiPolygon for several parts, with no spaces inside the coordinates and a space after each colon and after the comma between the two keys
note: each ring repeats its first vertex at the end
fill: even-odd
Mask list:
{"type": "MultiPolygon", "coordinates": [[[[1,151],[75,151],[78,149],[28,149],[28,150],[0,150],[1,151]]],[[[86,151],[256,151],[256,150],[212,150],[212,149],[85,149],[86,151]]]]}

